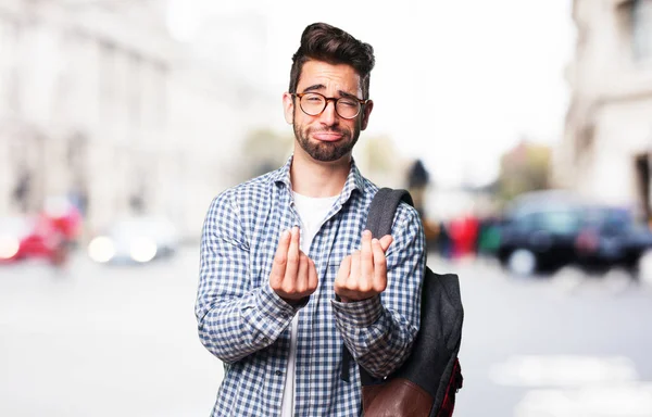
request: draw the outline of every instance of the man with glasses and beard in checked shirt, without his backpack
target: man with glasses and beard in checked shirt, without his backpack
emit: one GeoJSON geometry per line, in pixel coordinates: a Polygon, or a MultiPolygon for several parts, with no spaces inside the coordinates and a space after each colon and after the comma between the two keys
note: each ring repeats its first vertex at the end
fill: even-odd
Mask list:
{"type": "Polygon", "coordinates": [[[225,364],[213,416],[358,416],[355,362],[386,376],[418,331],[419,217],[401,204],[392,235],[372,239],[378,189],[351,155],[373,110],[373,49],[317,23],[292,60],[292,156],[222,192],[204,222],[196,314],[225,364]],[[348,381],[342,342],[355,359],[348,381]]]}

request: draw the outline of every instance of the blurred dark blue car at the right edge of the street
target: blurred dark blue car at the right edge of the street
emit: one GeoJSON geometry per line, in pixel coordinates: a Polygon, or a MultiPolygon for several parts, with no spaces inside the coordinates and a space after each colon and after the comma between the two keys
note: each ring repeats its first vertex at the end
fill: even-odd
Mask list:
{"type": "Polygon", "coordinates": [[[514,200],[500,225],[497,254],[512,273],[531,275],[566,265],[634,270],[651,248],[652,232],[629,211],[553,190],[514,200]]]}

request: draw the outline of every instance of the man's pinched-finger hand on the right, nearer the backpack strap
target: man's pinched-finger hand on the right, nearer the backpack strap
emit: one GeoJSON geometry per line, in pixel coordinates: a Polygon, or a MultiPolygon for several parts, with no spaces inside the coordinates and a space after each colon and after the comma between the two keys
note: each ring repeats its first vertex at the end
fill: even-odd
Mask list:
{"type": "Polygon", "coordinates": [[[372,239],[368,230],[362,233],[360,251],[344,257],[335,279],[335,293],[343,302],[371,299],[387,288],[385,252],[392,242],[390,235],[372,239]]]}

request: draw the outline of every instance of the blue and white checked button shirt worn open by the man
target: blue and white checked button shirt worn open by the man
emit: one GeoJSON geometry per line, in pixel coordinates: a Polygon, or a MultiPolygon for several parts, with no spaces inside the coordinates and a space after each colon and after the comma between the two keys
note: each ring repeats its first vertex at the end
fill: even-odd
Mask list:
{"type": "Polygon", "coordinates": [[[296,314],[296,416],[358,416],[360,375],[351,361],[350,382],[340,378],[342,342],[371,374],[386,376],[404,362],[418,331],[425,238],[408,204],[401,203],[394,218],[386,291],[360,302],[335,301],[340,262],[360,249],[378,190],[354,163],[308,254],[317,269],[317,290],[294,308],[271,289],[280,232],[301,225],[292,203],[291,161],[222,192],[204,220],[196,315],[201,342],[225,364],[212,416],[280,415],[296,314]]]}

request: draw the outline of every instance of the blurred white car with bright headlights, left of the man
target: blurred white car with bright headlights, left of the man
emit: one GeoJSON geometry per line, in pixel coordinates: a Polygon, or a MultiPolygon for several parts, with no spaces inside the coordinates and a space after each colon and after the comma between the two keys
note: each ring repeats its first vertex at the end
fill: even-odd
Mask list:
{"type": "Polygon", "coordinates": [[[145,264],[174,255],[178,247],[172,222],[139,216],[120,219],[96,236],[88,244],[88,255],[101,264],[145,264]]]}

